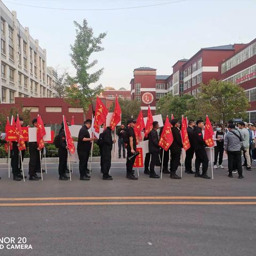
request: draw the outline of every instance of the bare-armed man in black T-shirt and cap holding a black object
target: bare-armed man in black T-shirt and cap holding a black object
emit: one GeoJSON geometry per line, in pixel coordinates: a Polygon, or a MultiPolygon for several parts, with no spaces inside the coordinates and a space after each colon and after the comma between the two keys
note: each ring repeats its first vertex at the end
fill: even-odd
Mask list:
{"type": "Polygon", "coordinates": [[[135,162],[135,157],[132,157],[129,159],[129,157],[133,156],[136,153],[136,137],[134,133],[134,127],[136,124],[135,119],[129,119],[128,121],[129,127],[126,130],[126,136],[128,137],[128,143],[127,143],[127,161],[126,161],[126,178],[129,180],[138,180],[137,177],[135,177],[132,167],[135,162]]]}

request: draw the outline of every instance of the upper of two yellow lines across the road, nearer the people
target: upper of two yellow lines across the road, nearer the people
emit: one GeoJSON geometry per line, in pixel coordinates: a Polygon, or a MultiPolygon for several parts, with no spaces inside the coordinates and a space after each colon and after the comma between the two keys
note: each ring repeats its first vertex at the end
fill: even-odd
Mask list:
{"type": "Polygon", "coordinates": [[[129,199],[236,199],[236,200],[244,200],[244,199],[256,199],[256,196],[108,196],[108,197],[3,197],[0,198],[0,201],[58,201],[58,200],[129,200],[129,199]]]}

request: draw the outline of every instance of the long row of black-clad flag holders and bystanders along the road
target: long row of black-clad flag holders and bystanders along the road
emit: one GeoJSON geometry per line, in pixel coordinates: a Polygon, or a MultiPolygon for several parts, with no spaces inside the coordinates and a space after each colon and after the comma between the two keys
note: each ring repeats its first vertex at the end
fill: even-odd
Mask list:
{"type": "MultiPolygon", "coordinates": [[[[21,125],[23,119],[20,118],[21,125]]],[[[34,127],[36,127],[37,119],[32,121],[34,127]]],[[[149,175],[150,178],[159,178],[159,175],[155,171],[155,166],[160,165],[161,171],[164,174],[170,174],[171,179],[181,179],[177,174],[179,165],[181,165],[182,154],[182,138],[180,133],[180,123],[178,119],[171,120],[171,132],[173,136],[173,142],[170,148],[165,151],[159,147],[159,138],[163,132],[163,127],[159,127],[158,122],[153,122],[153,129],[144,137],[144,140],[148,140],[149,152],[146,153],[144,159],[144,173],[149,175]],[[163,162],[163,163],[161,163],[163,162]],[[170,169],[169,169],[170,166],[170,169]]],[[[78,134],[77,153],[79,158],[79,174],[80,180],[90,180],[90,170],[88,169],[88,161],[90,156],[90,150],[92,148],[92,142],[95,141],[100,149],[100,169],[103,180],[113,180],[110,175],[111,167],[111,150],[113,144],[116,142],[113,139],[111,128],[106,129],[99,135],[99,139],[91,137],[89,129],[91,128],[92,121],[87,119],[78,134]]],[[[135,161],[137,138],[135,136],[134,127],[136,125],[135,119],[129,119],[127,125],[121,125],[117,129],[118,135],[118,157],[126,158],[126,178],[130,180],[138,180],[135,177],[133,165],[135,161]]],[[[228,177],[232,178],[233,174],[238,173],[238,178],[242,179],[243,169],[245,167],[247,171],[251,171],[252,161],[256,162],[255,151],[255,137],[256,137],[256,125],[247,124],[245,122],[238,122],[236,125],[233,121],[229,121],[225,127],[222,124],[212,124],[214,135],[214,169],[223,169],[222,160],[223,154],[226,152],[228,156],[228,177]],[[244,156],[244,163],[242,165],[242,154],[244,156]]],[[[187,134],[190,143],[190,148],[186,150],[185,158],[185,172],[187,174],[194,174],[196,178],[210,179],[207,174],[209,159],[206,153],[206,144],[204,141],[204,121],[194,120],[188,121],[187,134]],[[195,155],[195,171],[193,170],[193,158],[195,155]],[[201,171],[202,167],[202,171],[201,171]]],[[[68,147],[66,141],[66,134],[63,122],[61,129],[54,139],[54,144],[58,148],[59,154],[59,180],[68,180],[67,175],[67,157],[68,147]]],[[[41,159],[40,149],[37,146],[37,142],[28,142],[29,148],[29,180],[39,180],[41,177],[37,175],[41,172],[41,159]]],[[[19,153],[18,142],[12,142],[11,150],[11,167],[13,173],[13,180],[20,181],[23,178],[21,172],[21,165],[23,161],[25,150],[19,153]],[[21,159],[20,161],[20,154],[21,159]]]]}

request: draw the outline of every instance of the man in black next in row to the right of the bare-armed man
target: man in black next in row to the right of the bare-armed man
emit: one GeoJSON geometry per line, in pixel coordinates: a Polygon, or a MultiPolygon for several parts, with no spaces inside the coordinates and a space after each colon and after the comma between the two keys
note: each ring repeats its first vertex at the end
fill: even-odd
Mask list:
{"type": "Polygon", "coordinates": [[[149,170],[150,170],[149,178],[159,178],[159,175],[157,175],[155,172],[155,165],[158,161],[158,156],[159,156],[159,146],[158,146],[159,139],[157,134],[158,128],[159,128],[158,122],[154,121],[153,129],[148,134],[148,149],[151,155],[151,161],[149,166],[149,170]]]}

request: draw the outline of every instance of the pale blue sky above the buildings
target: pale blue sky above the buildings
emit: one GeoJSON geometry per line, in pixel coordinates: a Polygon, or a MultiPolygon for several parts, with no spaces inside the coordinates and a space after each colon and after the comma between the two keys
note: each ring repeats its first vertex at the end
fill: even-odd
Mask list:
{"type": "MultiPolygon", "coordinates": [[[[75,40],[73,21],[86,19],[102,41],[104,51],[92,55],[104,73],[97,84],[130,90],[133,69],[151,67],[157,75],[171,75],[174,63],[189,59],[203,47],[249,43],[256,37],[255,0],[185,0],[125,10],[82,11],[162,4],[175,0],[8,0],[17,18],[47,51],[47,66],[71,76],[70,44],[75,40]],[[72,10],[51,10],[18,4],[72,10]]],[[[176,0],[177,1],[177,0],[176,0]]],[[[94,85],[92,85],[93,87],[94,85]]]]}

